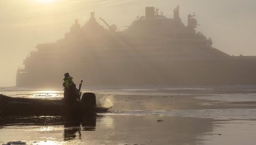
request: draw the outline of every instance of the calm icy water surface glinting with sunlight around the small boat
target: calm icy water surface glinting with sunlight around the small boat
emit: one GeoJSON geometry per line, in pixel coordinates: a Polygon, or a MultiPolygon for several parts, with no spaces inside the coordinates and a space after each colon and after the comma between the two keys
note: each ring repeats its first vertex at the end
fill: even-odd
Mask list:
{"type": "MultiPolygon", "coordinates": [[[[28,145],[254,145],[256,90],[83,90],[112,108],[93,116],[0,116],[0,143],[28,145]]],[[[59,99],[62,91],[0,90],[59,99]]],[[[79,114],[79,113],[78,113],[79,114]]]]}

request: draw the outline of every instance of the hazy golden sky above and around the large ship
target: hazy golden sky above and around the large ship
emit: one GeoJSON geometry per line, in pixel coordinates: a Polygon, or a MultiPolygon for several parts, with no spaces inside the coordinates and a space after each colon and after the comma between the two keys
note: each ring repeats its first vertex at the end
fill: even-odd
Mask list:
{"type": "Polygon", "coordinates": [[[170,18],[177,4],[185,25],[187,14],[196,12],[197,31],[211,37],[213,47],[256,56],[255,0],[0,0],[0,86],[14,86],[17,68],[37,44],[63,38],[74,19],[84,24],[91,11],[100,24],[102,17],[121,31],[145,6],[170,18]]]}

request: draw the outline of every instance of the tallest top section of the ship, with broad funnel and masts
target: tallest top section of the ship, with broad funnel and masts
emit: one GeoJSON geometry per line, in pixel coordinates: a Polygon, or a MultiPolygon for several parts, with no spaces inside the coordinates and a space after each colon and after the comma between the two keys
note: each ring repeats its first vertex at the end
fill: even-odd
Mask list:
{"type": "MultiPolygon", "coordinates": [[[[137,16],[137,20],[134,20],[126,31],[135,34],[161,34],[174,37],[177,34],[182,37],[193,37],[194,34],[200,34],[195,31],[198,26],[197,20],[192,18],[195,14],[189,14],[188,26],[182,23],[179,5],[173,10],[173,18],[167,18],[162,12],[159,14],[158,11],[159,9],[155,9],[155,7],[146,7],[145,16],[140,18],[137,16]]],[[[202,36],[202,38],[204,37],[202,36]]]]}

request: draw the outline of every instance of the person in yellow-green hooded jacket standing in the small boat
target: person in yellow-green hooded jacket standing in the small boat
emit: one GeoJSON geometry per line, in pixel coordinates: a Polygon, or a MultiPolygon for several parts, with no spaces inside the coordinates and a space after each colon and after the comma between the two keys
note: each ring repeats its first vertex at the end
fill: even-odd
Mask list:
{"type": "Polygon", "coordinates": [[[65,101],[75,101],[77,96],[76,96],[76,85],[73,82],[73,78],[69,76],[69,73],[64,74],[65,78],[63,87],[64,87],[64,100],[65,101]]]}

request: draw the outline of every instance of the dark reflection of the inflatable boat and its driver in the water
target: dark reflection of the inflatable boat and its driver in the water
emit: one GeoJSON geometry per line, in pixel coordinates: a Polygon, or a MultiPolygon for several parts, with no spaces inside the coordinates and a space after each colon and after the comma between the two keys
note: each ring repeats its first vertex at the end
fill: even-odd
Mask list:
{"type": "Polygon", "coordinates": [[[33,130],[34,132],[50,132],[57,129],[55,127],[47,126],[63,125],[63,140],[69,141],[81,139],[81,130],[95,131],[96,118],[98,116],[99,115],[96,114],[89,116],[0,116],[0,129],[12,126],[32,126],[31,128],[36,126],[38,129],[33,130]],[[76,135],[77,133],[78,138],[76,135]]]}

